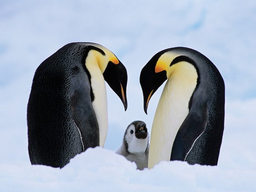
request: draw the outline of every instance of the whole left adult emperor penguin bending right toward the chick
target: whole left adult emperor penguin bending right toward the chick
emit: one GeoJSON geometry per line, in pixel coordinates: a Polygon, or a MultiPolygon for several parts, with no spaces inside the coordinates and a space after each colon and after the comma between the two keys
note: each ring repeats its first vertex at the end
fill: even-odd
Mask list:
{"type": "Polygon", "coordinates": [[[127,71],[107,48],[69,43],[37,68],[27,105],[32,164],[62,168],[107,136],[105,82],[127,109],[127,71]]]}

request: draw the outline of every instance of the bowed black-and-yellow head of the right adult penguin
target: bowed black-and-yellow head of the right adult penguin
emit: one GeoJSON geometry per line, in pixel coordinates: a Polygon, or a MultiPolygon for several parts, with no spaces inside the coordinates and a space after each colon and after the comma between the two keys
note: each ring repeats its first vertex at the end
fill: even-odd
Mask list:
{"type": "MultiPolygon", "coordinates": [[[[165,80],[187,70],[185,67],[175,65],[179,62],[186,62],[196,67],[195,62],[189,56],[189,48],[168,48],[156,53],[144,66],[140,73],[140,85],[144,96],[144,112],[147,114],[147,108],[150,98],[155,91],[165,82],[165,80]]],[[[188,69],[189,70],[189,69],[188,69]]]]}

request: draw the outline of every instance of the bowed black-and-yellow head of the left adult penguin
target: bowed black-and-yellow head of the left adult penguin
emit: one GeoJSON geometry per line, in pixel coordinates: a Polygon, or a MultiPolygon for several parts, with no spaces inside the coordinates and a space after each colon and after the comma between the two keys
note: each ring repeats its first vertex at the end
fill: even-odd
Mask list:
{"type": "Polygon", "coordinates": [[[104,80],[117,94],[123,102],[124,109],[127,109],[127,70],[124,65],[117,59],[114,53],[100,44],[90,43],[87,48],[90,50],[89,54],[93,54],[96,62],[101,69],[104,80]]]}

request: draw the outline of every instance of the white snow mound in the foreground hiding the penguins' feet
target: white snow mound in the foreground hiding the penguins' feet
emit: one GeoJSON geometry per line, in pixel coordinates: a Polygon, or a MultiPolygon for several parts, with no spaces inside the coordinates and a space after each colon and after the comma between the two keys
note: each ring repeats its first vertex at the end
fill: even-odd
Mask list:
{"type": "Polygon", "coordinates": [[[88,149],[62,169],[44,165],[1,165],[1,191],[255,191],[250,167],[161,162],[136,170],[112,150],[88,149]],[[3,185],[4,184],[4,185],[3,185]],[[7,184],[7,185],[6,185],[7,184]]]}

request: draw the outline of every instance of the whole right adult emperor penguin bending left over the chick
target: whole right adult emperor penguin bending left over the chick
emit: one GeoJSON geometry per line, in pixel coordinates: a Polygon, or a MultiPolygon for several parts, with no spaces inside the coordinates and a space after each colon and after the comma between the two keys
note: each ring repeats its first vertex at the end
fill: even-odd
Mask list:
{"type": "Polygon", "coordinates": [[[216,66],[191,48],[168,48],[144,66],[144,111],[167,80],[152,124],[149,168],[161,160],[217,165],[224,130],[224,80],[216,66]]]}

